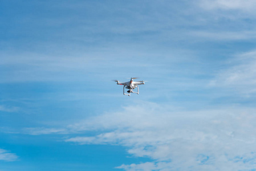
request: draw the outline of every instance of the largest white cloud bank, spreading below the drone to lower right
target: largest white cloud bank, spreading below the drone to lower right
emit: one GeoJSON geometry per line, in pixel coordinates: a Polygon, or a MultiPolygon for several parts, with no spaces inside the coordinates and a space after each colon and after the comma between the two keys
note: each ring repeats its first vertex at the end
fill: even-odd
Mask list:
{"type": "Polygon", "coordinates": [[[125,170],[243,170],[256,168],[256,109],[225,108],[177,112],[146,103],[71,125],[99,131],[67,142],[115,144],[152,162],[121,165],[125,170]]]}

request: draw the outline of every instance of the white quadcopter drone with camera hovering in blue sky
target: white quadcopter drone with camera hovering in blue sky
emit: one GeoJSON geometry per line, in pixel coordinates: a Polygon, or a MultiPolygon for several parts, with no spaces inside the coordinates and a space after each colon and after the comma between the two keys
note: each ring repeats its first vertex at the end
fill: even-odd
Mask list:
{"type": "Polygon", "coordinates": [[[123,93],[124,93],[124,88],[127,88],[129,89],[127,93],[124,93],[124,95],[128,95],[128,96],[131,96],[131,93],[137,93],[139,94],[139,86],[138,85],[141,85],[141,84],[145,84],[145,82],[147,81],[133,81],[133,79],[137,79],[137,78],[131,78],[131,80],[129,82],[119,82],[119,80],[113,80],[114,82],[117,82],[116,84],[119,84],[119,85],[124,85],[123,87],[123,93]],[[134,92],[133,89],[135,89],[137,87],[137,92],[134,92]]]}

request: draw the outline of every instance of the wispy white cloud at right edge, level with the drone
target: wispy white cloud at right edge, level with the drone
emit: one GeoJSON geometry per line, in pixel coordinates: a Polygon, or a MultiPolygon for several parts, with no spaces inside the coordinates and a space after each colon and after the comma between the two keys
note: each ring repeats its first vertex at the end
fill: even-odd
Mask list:
{"type": "Polygon", "coordinates": [[[210,82],[211,86],[233,88],[250,95],[256,92],[256,51],[240,54],[210,82]]]}

